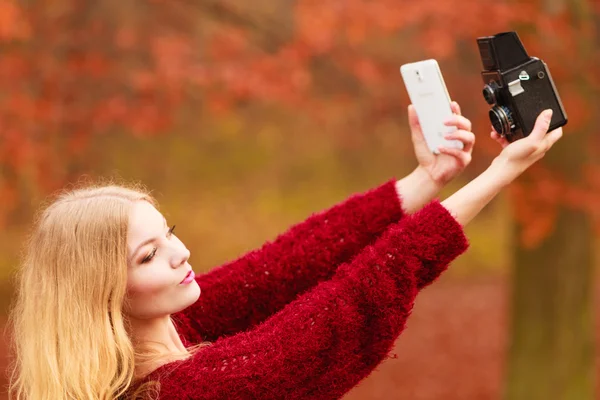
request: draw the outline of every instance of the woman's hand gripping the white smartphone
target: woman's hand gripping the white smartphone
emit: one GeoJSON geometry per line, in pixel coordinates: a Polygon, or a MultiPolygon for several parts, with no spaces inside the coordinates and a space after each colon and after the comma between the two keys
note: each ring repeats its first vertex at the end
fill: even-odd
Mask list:
{"type": "Polygon", "coordinates": [[[446,139],[460,140],[463,143],[463,149],[440,147],[438,149],[440,154],[433,154],[429,150],[417,113],[412,105],[408,107],[408,122],[419,167],[425,170],[432,181],[440,187],[458,176],[469,165],[475,144],[475,135],[471,132],[471,121],[461,115],[458,103],[453,101],[451,107],[454,116],[445,125],[455,126],[457,130],[446,135],[446,139]]]}

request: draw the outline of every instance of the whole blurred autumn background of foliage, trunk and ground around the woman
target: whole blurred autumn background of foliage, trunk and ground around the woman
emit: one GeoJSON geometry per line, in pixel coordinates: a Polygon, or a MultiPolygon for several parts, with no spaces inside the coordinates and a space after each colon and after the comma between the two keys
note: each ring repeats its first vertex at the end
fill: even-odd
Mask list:
{"type": "Polygon", "coordinates": [[[548,64],[565,137],[345,399],[600,399],[597,0],[1,0],[0,319],[36,210],[82,180],[152,189],[206,271],[408,174],[406,62],[437,59],[473,121],[452,193],[499,151],[475,40],[508,30],[548,64]]]}

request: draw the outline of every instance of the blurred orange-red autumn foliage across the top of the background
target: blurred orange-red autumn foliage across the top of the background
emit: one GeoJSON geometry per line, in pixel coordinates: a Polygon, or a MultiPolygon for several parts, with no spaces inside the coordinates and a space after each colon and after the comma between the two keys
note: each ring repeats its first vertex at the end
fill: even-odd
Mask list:
{"type": "MultiPolygon", "coordinates": [[[[18,4],[0,2],[0,168],[11,171],[0,187],[6,188],[25,176],[40,187],[60,185],[70,163],[85,165],[94,134],[168,131],[191,92],[214,113],[266,101],[323,119],[327,102],[361,101],[366,122],[374,124],[405,110],[399,66],[435,57],[463,109],[483,110],[479,77],[466,76],[464,65],[479,63],[477,36],[515,26],[530,54],[552,70],[570,117],[567,131],[591,129],[594,115],[582,93],[600,90],[600,53],[582,55],[579,46],[593,38],[592,26],[574,23],[565,11],[540,12],[540,0],[296,0],[289,25],[207,0],[152,1],[135,13],[117,3],[18,4]],[[61,150],[56,141],[64,142],[61,150]]],[[[487,136],[485,113],[471,118],[487,136]]],[[[481,148],[497,151],[482,139],[481,148]]],[[[580,188],[553,175],[529,179],[530,188],[513,188],[528,245],[550,231],[560,202],[596,212],[590,205],[600,193],[596,178],[580,188]]],[[[0,216],[15,196],[2,197],[0,216]]]]}

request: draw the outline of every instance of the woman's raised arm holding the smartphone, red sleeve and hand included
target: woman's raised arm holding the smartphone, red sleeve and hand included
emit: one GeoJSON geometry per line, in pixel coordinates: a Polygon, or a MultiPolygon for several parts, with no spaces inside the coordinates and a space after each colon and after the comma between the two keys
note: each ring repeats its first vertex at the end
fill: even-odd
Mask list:
{"type": "MultiPolygon", "coordinates": [[[[198,277],[202,296],[179,317],[191,320],[205,340],[213,341],[264,321],[300,293],[329,279],[339,264],[372,243],[389,224],[430,202],[470,162],[471,123],[460,116],[456,103],[453,109],[457,115],[448,125],[458,128],[452,139],[461,140],[463,150],[440,149],[448,154],[433,155],[414,110],[409,109],[419,161],[411,174],[313,215],[274,242],[198,277]]],[[[426,266],[428,271],[440,268],[426,266]]],[[[424,277],[419,287],[429,278],[424,277]]]]}

